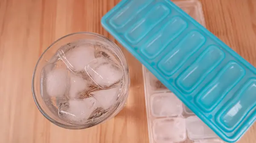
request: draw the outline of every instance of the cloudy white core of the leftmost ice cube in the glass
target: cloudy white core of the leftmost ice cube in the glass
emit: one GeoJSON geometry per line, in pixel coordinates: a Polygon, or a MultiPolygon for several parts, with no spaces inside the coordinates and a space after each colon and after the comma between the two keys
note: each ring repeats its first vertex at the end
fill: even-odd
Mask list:
{"type": "Polygon", "coordinates": [[[45,75],[45,86],[47,94],[52,97],[64,96],[69,84],[67,70],[64,68],[56,68],[50,70],[45,75]]]}

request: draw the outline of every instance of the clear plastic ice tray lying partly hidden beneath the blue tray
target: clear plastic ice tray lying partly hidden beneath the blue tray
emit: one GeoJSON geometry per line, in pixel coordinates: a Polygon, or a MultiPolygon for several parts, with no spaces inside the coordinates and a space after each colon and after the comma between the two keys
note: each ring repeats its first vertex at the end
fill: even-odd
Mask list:
{"type": "MultiPolygon", "coordinates": [[[[175,2],[175,4],[199,23],[205,25],[202,6],[198,0],[182,0],[175,2]]],[[[218,136],[197,118],[190,109],[184,106],[184,104],[171,93],[170,90],[150,73],[145,66],[142,67],[150,143],[224,143],[222,140],[218,139],[218,136]],[[167,129],[160,130],[162,132],[156,132],[158,128],[162,128],[162,124],[157,123],[159,121],[165,121],[164,119],[170,119],[170,117],[174,121],[185,121],[181,123],[186,123],[186,130],[184,130],[184,128],[178,128],[181,129],[181,132],[174,133],[174,130],[177,130],[175,129],[175,126],[177,125],[171,124],[171,120],[166,123],[166,126],[164,124],[167,129]],[[160,120],[160,118],[164,119],[160,120]],[[170,125],[168,126],[168,124],[170,125]],[[166,132],[170,134],[166,134],[166,132]],[[161,140],[161,138],[159,138],[160,135],[166,139],[163,140],[162,138],[161,140]]]]}

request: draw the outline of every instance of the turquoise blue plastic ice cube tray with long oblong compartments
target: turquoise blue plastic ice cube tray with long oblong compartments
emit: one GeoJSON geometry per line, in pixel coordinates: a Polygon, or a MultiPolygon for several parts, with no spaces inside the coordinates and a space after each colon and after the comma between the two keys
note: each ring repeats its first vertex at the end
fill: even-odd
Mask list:
{"type": "Polygon", "coordinates": [[[103,27],[219,137],[256,119],[256,69],[169,0],[122,0],[103,27]]]}

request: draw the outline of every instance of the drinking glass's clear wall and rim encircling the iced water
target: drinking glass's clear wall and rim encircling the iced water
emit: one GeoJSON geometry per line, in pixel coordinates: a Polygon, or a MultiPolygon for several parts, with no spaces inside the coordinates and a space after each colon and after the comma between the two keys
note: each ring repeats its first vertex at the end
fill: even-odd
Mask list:
{"type": "Polygon", "coordinates": [[[53,42],[52,45],[50,45],[40,56],[32,77],[32,93],[38,109],[50,122],[66,129],[84,129],[107,121],[115,116],[118,112],[120,112],[120,110],[125,106],[126,100],[128,98],[129,84],[130,77],[128,72],[128,65],[120,48],[105,36],[89,32],[79,32],[61,37],[57,41],[53,42]],[[119,95],[111,108],[108,109],[103,115],[93,118],[93,120],[88,119],[88,121],[83,124],[76,124],[67,122],[63,120],[63,118],[60,118],[58,115],[58,109],[56,109],[54,103],[52,103],[52,101],[46,101],[43,98],[43,93],[41,92],[41,82],[42,70],[44,66],[52,60],[56,60],[56,58],[58,58],[56,51],[58,51],[60,48],[63,48],[64,46],[70,45],[70,43],[81,40],[93,40],[99,44],[106,45],[107,50],[111,51],[118,60],[120,68],[123,71],[123,76],[121,80],[122,86],[119,90],[119,95]]]}

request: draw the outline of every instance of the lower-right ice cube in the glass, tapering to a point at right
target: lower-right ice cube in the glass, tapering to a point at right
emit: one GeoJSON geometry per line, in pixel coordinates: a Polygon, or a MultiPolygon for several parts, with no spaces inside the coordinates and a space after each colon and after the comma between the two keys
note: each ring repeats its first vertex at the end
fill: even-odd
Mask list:
{"type": "Polygon", "coordinates": [[[99,102],[99,105],[97,105],[98,107],[102,107],[103,109],[108,109],[117,100],[119,92],[120,92],[120,84],[108,90],[95,91],[93,93],[90,93],[90,95],[93,96],[96,99],[96,101],[99,102]]]}

